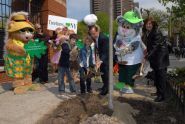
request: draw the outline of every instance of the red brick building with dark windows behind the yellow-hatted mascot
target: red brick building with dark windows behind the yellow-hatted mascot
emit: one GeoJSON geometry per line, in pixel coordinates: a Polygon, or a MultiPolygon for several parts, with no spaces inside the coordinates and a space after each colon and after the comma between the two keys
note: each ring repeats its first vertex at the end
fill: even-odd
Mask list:
{"type": "Polygon", "coordinates": [[[66,0],[0,0],[0,66],[3,65],[3,47],[6,20],[12,12],[29,12],[30,21],[40,23],[43,32],[52,35],[47,30],[48,15],[66,17],[66,0]]]}

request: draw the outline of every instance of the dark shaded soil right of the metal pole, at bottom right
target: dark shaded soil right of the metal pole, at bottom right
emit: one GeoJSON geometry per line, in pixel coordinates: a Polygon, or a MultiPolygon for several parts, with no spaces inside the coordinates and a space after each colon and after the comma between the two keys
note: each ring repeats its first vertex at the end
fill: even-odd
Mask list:
{"type": "Polygon", "coordinates": [[[185,114],[177,110],[172,101],[154,103],[124,97],[118,97],[117,100],[139,110],[138,114],[133,115],[137,124],[185,124],[185,114]]]}

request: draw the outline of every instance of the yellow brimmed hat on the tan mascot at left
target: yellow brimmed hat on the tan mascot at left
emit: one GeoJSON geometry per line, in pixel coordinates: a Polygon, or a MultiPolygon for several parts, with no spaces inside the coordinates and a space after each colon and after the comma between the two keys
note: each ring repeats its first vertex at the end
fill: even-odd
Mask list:
{"type": "Polygon", "coordinates": [[[26,17],[26,13],[24,12],[17,12],[13,13],[13,15],[9,19],[8,24],[8,32],[15,32],[21,30],[23,28],[31,28],[34,30],[34,26],[26,17]]]}

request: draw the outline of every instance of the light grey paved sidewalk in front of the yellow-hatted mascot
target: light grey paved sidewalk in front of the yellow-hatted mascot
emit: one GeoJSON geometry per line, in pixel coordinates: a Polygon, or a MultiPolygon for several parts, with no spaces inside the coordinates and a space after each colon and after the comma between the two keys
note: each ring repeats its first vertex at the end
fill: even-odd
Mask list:
{"type": "Polygon", "coordinates": [[[55,109],[66,98],[58,94],[53,78],[56,75],[50,75],[53,81],[43,85],[41,91],[29,91],[22,95],[14,95],[9,83],[0,84],[0,124],[35,124],[55,109]]]}

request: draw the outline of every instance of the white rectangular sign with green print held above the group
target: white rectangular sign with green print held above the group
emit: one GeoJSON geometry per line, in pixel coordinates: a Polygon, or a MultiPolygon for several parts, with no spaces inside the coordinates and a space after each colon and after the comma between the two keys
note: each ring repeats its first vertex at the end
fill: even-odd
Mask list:
{"type": "Polygon", "coordinates": [[[69,30],[74,30],[77,33],[77,24],[76,19],[64,18],[61,16],[48,15],[48,30],[55,30],[58,27],[68,27],[69,30]]]}

